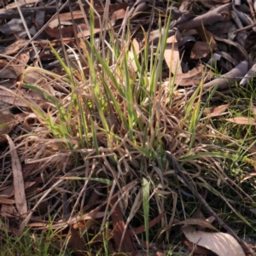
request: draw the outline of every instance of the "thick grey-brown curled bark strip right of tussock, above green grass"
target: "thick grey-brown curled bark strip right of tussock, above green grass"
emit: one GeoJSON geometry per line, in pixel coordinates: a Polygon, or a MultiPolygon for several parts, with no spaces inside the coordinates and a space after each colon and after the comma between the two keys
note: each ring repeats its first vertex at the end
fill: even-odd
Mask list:
{"type": "MultiPolygon", "coordinates": [[[[240,82],[248,71],[248,61],[241,61],[236,67],[225,73],[219,79],[214,79],[211,82],[203,85],[203,90],[212,89],[218,86],[218,90],[228,89],[230,85],[240,82]]],[[[189,90],[187,96],[192,96],[196,89],[189,90]]]]}

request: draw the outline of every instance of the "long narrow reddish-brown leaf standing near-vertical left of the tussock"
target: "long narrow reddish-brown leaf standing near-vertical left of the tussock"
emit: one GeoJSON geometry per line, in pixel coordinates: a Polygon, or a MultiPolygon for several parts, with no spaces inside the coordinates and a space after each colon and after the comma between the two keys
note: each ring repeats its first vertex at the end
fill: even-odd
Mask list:
{"type": "Polygon", "coordinates": [[[26,194],[25,194],[25,187],[24,187],[24,180],[22,176],[22,169],[20,165],[20,160],[15,149],[15,143],[11,140],[11,138],[6,135],[9,148],[10,148],[10,155],[12,159],[12,171],[14,176],[14,187],[15,187],[15,205],[20,215],[26,217],[27,213],[27,206],[26,206],[26,194]]]}

